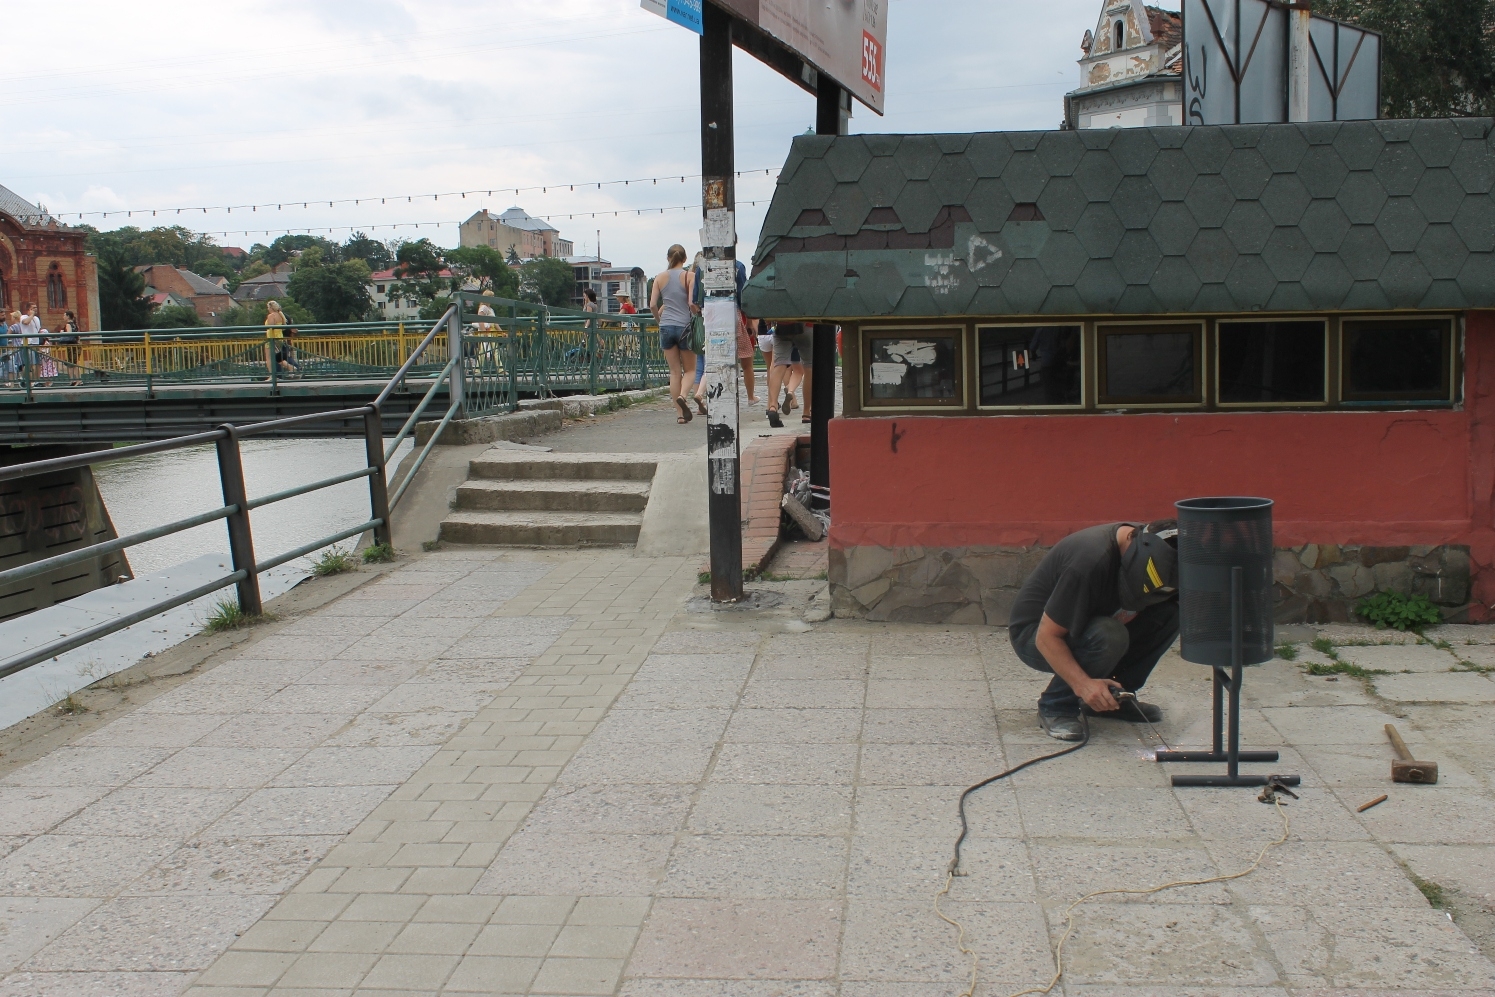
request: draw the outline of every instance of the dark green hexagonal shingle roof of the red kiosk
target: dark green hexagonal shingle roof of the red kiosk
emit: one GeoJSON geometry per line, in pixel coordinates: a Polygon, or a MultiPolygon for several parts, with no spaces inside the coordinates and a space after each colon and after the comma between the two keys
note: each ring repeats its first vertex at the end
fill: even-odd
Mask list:
{"type": "Polygon", "coordinates": [[[800,136],[773,318],[1495,308],[1491,118],[800,136]]]}

